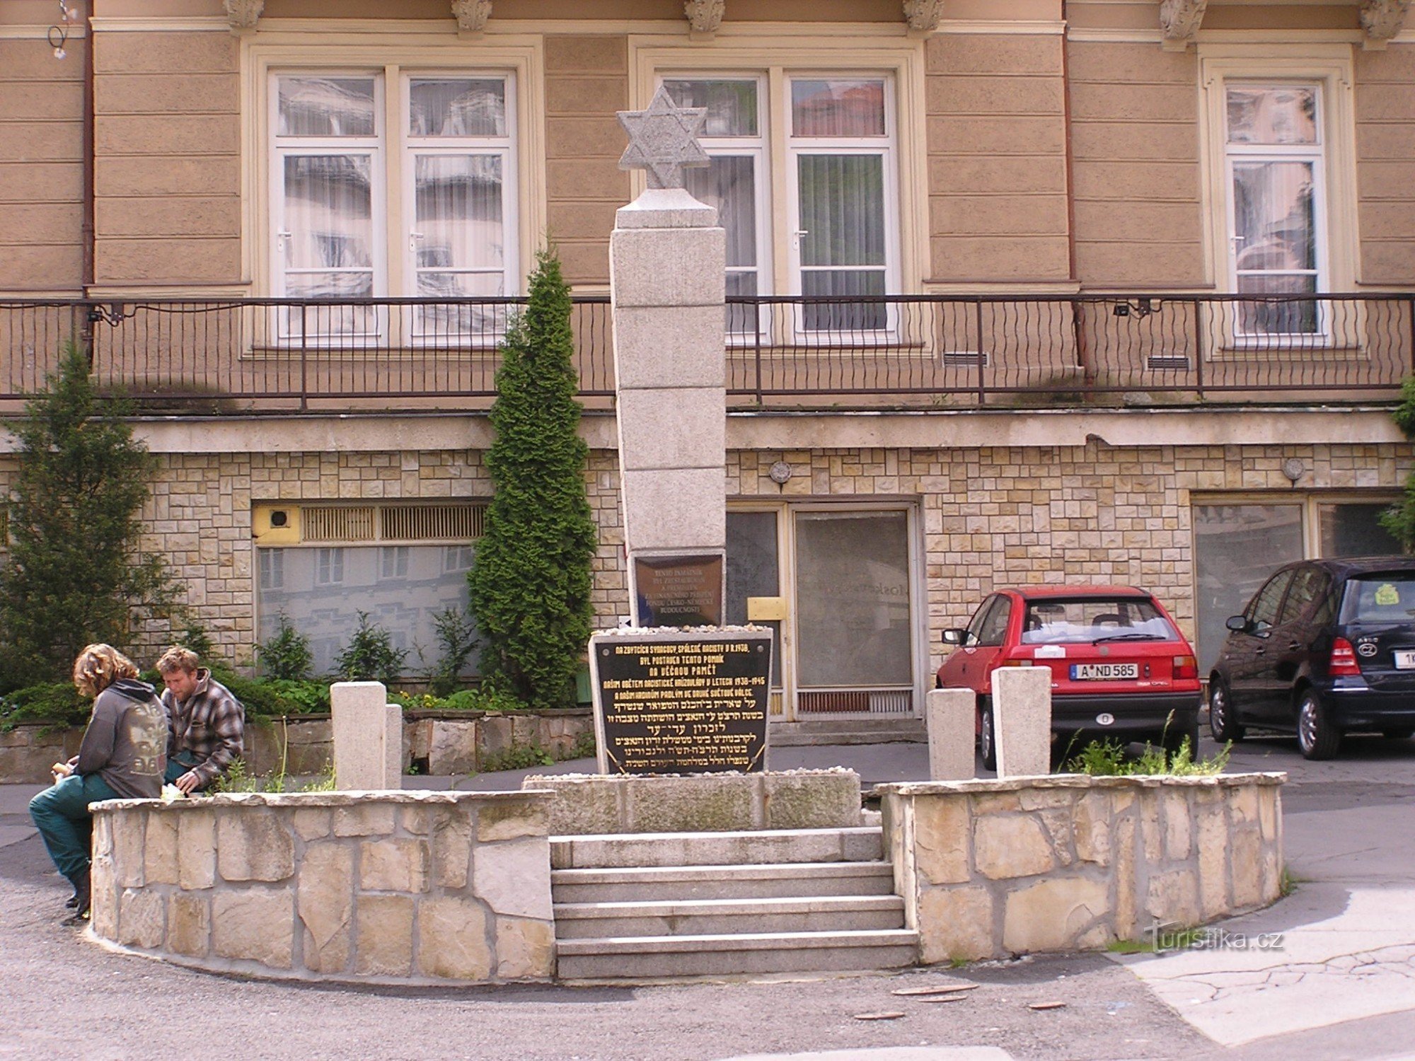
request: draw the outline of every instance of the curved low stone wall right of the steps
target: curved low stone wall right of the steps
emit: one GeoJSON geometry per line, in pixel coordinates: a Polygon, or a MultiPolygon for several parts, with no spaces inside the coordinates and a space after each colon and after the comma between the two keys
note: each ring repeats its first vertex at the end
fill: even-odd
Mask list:
{"type": "Polygon", "coordinates": [[[1087,951],[1272,903],[1286,774],[887,784],[923,963],[1087,951]]]}

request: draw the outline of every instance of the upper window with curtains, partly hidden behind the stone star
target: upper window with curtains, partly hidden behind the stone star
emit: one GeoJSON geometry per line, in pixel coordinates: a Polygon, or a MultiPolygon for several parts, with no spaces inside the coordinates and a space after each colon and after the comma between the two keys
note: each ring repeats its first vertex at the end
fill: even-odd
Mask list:
{"type": "MultiPolygon", "coordinates": [[[[727,231],[729,294],[880,296],[899,283],[891,78],[685,75],[664,86],[679,106],[708,108],[712,164],[686,171],[688,190],[727,231]],[[784,216],[770,208],[773,181],[784,216]],[[785,248],[785,276],[773,276],[774,246],[785,248]]],[[[760,327],[741,308],[727,320],[739,337],[760,327]]],[[[795,330],[884,327],[877,303],[815,303],[795,330]]]]}

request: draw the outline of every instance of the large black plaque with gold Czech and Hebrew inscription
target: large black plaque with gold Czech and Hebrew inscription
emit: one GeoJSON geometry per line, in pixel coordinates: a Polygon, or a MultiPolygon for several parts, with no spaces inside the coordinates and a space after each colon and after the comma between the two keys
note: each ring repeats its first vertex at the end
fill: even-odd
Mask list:
{"type": "Polygon", "coordinates": [[[590,651],[607,772],[767,768],[771,631],[672,641],[607,635],[590,651]]]}

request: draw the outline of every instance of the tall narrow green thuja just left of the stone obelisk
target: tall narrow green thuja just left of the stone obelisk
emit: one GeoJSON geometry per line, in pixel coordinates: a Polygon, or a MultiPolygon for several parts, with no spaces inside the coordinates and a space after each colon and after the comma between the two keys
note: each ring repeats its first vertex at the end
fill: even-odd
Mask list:
{"type": "Polygon", "coordinates": [[[467,576],[483,679],[531,707],[573,703],[591,627],[594,521],[573,354],[570,289],[541,252],[525,313],[501,344],[487,450],[495,494],[467,576]]]}

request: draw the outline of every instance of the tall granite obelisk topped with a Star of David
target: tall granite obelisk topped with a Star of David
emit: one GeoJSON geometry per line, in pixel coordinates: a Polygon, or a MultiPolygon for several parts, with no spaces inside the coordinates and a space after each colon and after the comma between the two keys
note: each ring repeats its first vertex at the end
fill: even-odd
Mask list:
{"type": "Polygon", "coordinates": [[[726,579],[726,235],[717,211],[683,188],[708,166],[708,117],[659,89],[621,112],[620,168],[648,190],[616,215],[610,236],[620,489],[635,627],[723,622],[726,579]]]}

